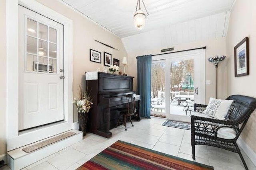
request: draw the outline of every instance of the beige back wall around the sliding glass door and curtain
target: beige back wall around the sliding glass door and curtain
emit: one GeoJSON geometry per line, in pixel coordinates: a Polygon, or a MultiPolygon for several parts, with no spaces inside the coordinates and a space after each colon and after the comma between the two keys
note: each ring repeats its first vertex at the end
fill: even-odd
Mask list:
{"type": "MultiPolygon", "coordinates": [[[[226,38],[218,38],[218,39],[212,39],[208,41],[198,41],[193,43],[186,43],[186,44],[180,44],[180,45],[174,45],[174,51],[181,51],[186,49],[193,49],[193,48],[199,48],[206,46],[205,50],[205,80],[211,80],[210,85],[206,85],[206,103],[208,103],[210,97],[215,98],[215,67],[212,63],[209,63],[207,58],[217,56],[217,55],[226,55],[226,38]]],[[[161,49],[165,49],[166,47],[163,47],[161,49]]],[[[168,47],[167,47],[168,48],[168,47]]],[[[138,51],[135,53],[128,53],[128,74],[130,76],[134,76],[134,89],[136,89],[136,83],[137,83],[137,56],[140,55],[148,55],[148,54],[159,54],[160,49],[152,49],[149,51],[138,51]]],[[[227,78],[226,78],[226,60],[222,61],[218,67],[218,98],[225,99],[227,97],[227,90],[226,90],[226,84],[227,84],[227,78]]]]}

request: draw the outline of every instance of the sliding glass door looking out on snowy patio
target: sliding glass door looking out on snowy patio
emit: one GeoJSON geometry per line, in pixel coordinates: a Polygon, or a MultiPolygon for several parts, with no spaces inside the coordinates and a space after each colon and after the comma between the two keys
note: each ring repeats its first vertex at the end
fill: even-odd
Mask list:
{"type": "Polygon", "coordinates": [[[194,102],[205,103],[204,58],[204,49],[152,57],[151,115],[190,121],[194,102]]]}

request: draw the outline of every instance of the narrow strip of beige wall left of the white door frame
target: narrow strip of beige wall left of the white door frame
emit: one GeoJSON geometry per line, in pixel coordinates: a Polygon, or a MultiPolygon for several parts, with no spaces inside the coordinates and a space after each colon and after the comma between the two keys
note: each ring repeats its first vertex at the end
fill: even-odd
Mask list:
{"type": "Polygon", "coordinates": [[[0,155],[6,152],[6,0],[0,0],[0,155]]]}

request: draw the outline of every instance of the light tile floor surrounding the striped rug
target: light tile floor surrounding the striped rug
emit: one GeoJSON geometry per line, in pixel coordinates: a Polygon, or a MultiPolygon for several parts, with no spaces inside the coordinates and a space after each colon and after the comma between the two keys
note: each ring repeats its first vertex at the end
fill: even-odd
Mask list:
{"type": "MultiPolygon", "coordinates": [[[[106,139],[87,133],[84,139],[66,149],[60,150],[23,170],[74,170],[117,140],[164,152],[192,160],[190,131],[162,126],[165,119],[155,118],[128,123],[127,131],[123,126],[111,130],[112,137],[106,139]]],[[[256,167],[243,153],[250,170],[256,167]]],[[[244,170],[238,154],[228,150],[204,145],[196,145],[196,162],[214,166],[214,170],[244,170]]],[[[2,169],[9,170],[8,166],[2,169]]]]}

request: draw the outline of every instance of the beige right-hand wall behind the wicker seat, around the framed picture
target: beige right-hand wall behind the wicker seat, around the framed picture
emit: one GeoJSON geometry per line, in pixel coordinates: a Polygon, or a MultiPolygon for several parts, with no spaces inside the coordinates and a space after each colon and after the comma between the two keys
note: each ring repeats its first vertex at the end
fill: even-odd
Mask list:
{"type": "MultiPolygon", "coordinates": [[[[232,8],[227,34],[228,95],[242,94],[256,98],[256,1],[237,0],[232,8]],[[244,37],[249,38],[249,75],[234,77],[234,47],[244,37]]],[[[242,138],[256,153],[256,111],[252,113],[242,138]]]]}

